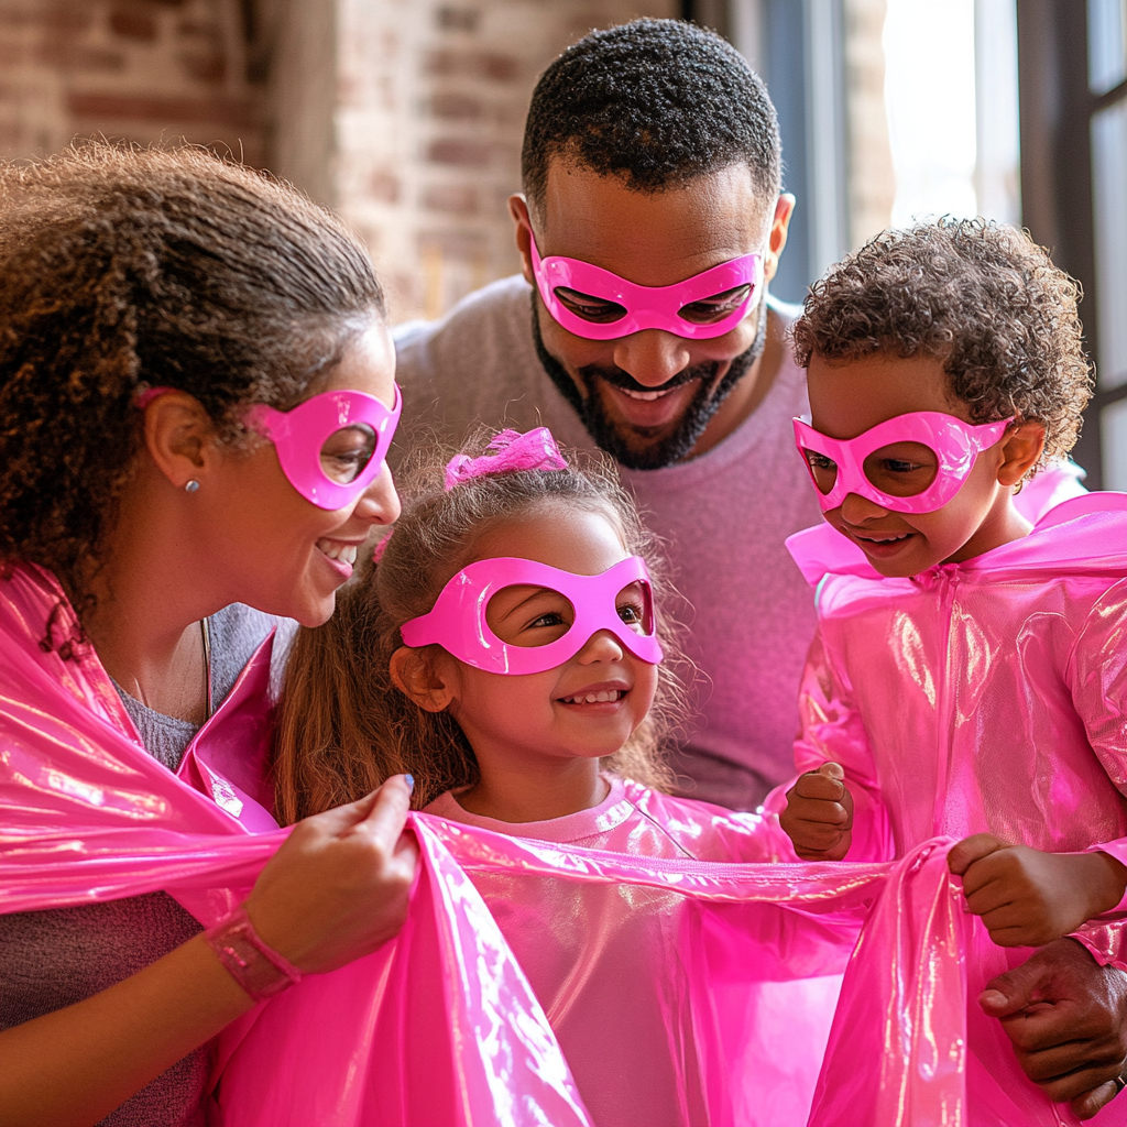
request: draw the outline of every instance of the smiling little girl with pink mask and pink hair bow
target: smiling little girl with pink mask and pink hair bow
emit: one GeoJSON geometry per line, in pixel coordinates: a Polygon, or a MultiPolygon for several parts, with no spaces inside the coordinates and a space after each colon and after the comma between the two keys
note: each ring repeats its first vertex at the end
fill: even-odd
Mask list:
{"type": "MultiPolygon", "coordinates": [[[[682,862],[790,855],[774,819],[660,790],[678,692],[662,570],[605,462],[579,469],[547,431],[505,432],[445,473],[409,474],[403,496],[337,618],[294,646],[275,762],[282,820],[407,771],[426,813],[499,833],[682,862]]],[[[691,917],[682,898],[511,876],[474,884],[595,1121],[708,1121],[694,1055],[703,1014],[677,970],[691,917]]],[[[747,1075],[765,1107],[778,1092],[770,1121],[805,1121],[836,984],[764,984],[802,1031],[800,1061],[756,1048],[747,1075]]]]}

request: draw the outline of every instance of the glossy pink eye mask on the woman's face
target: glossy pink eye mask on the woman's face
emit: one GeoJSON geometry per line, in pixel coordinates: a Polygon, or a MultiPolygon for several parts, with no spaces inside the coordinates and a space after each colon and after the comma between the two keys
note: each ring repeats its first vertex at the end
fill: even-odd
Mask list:
{"type": "Polygon", "coordinates": [[[292,410],[279,411],[256,403],[246,423],[274,443],[286,480],[318,508],[345,508],[375,480],[383,469],[394,437],[403,399],[396,384],[396,402],[389,410],[375,396],[363,391],[322,391],[292,410]],[[363,464],[350,481],[335,480],[325,471],[322,450],[338,431],[370,427],[375,436],[371,451],[363,450],[363,464]]]}

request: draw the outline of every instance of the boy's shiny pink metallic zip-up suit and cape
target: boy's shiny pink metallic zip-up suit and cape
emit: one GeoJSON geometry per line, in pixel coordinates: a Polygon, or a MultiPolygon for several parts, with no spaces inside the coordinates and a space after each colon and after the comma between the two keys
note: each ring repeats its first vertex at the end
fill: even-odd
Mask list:
{"type": "MultiPolygon", "coordinates": [[[[1099,845],[1127,863],[1127,495],[1066,500],[1024,539],[912,579],[882,578],[828,525],[788,544],[819,614],[796,761],[844,766],[850,861],[990,832],[1051,852],[1099,845]]],[[[1125,907],[1076,937],[1120,967],[1125,907]]],[[[971,996],[1030,953],[976,940],[971,996]]],[[[1002,1082],[1008,1046],[976,1011],[982,1121],[1026,1124],[1011,1101],[1029,1085],[1002,1082]]],[[[1115,1110],[1106,1121],[1122,1122],[1115,1110]]]]}

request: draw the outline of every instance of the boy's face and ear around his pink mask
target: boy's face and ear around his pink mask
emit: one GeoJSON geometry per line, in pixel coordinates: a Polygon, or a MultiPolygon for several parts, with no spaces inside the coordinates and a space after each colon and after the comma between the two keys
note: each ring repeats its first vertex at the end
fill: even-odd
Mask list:
{"type": "MultiPolygon", "coordinates": [[[[829,364],[815,354],[807,371],[811,421],[833,438],[854,438],[886,419],[913,411],[942,411],[971,421],[966,405],[950,390],[942,361],[877,353],[863,360],[829,364]]],[[[1040,454],[1044,428],[1028,423],[1011,428],[996,445],[978,454],[962,487],[932,513],[898,513],[858,494],[825,514],[838,532],[868,556],[886,576],[912,576],[940,562],[971,559],[1024,535],[1028,522],[1012,505],[1012,486],[1040,454]]],[[[881,488],[919,491],[934,477],[935,455],[920,443],[894,443],[866,462],[881,488]]]]}

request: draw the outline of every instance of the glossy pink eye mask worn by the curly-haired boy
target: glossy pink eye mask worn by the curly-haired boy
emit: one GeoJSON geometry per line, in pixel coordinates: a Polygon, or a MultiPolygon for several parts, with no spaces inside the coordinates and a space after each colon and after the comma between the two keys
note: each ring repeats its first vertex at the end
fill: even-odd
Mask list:
{"type": "MultiPolygon", "coordinates": [[[[878,423],[855,438],[841,440],[815,431],[805,419],[795,419],[795,443],[810,471],[824,513],[837,508],[851,492],[893,513],[933,513],[959,491],[978,454],[1000,442],[1012,421],[1013,416],[971,426],[942,411],[913,411],[878,423]],[[904,492],[886,492],[870,480],[864,463],[881,447],[900,442],[926,446],[935,455],[935,473],[925,485],[920,482],[919,474],[914,480],[905,476],[904,492]],[[832,464],[816,468],[818,455],[832,464]],[[824,491],[823,485],[831,476],[833,485],[824,491]]],[[[895,474],[882,474],[886,481],[889,477],[895,474]]]]}

